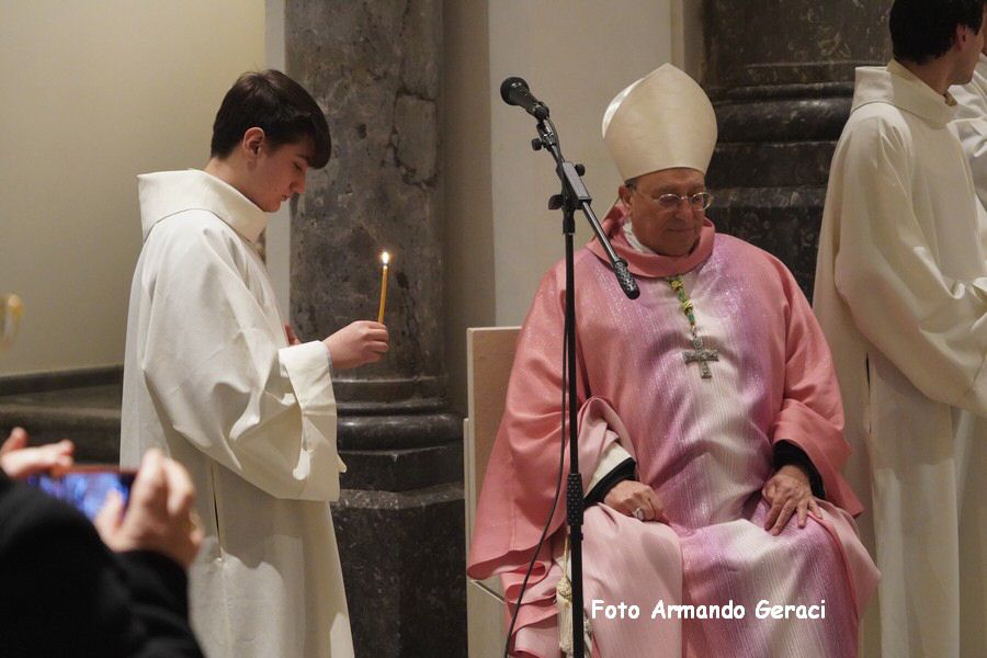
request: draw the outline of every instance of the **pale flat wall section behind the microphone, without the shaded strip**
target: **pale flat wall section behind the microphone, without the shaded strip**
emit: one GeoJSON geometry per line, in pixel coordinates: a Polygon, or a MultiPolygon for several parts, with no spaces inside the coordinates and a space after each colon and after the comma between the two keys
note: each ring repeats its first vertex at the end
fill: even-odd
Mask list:
{"type": "MultiPolygon", "coordinates": [[[[534,120],[500,100],[508,76],[524,78],[553,110],[563,155],[583,162],[602,218],[620,178],[600,134],[610,100],[671,57],[668,0],[540,0],[490,3],[490,99],[496,321],[519,324],[545,271],[563,258],[561,220],[548,211],[558,191],[551,156],[534,152],[534,120]]],[[[578,217],[577,245],[589,240],[578,217]]],[[[578,283],[577,283],[578,285],[578,283]]]]}

